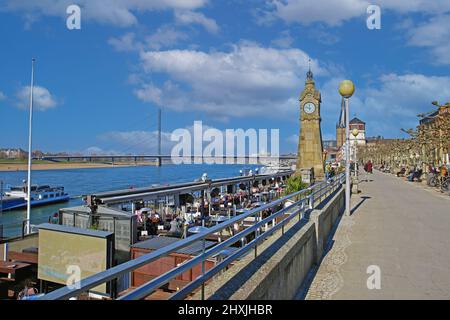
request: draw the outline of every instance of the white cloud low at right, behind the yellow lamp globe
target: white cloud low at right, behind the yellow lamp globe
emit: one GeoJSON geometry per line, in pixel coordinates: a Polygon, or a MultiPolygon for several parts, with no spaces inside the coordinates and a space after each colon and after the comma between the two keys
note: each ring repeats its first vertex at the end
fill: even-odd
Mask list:
{"type": "MultiPolygon", "coordinates": [[[[321,88],[324,123],[335,124],[339,117],[341,97],[337,88],[341,79],[331,79],[321,88]]],[[[400,129],[415,128],[417,114],[433,110],[431,101],[448,101],[450,77],[423,74],[384,74],[370,85],[359,87],[350,99],[350,117],[367,122],[369,135],[397,137],[400,129]]],[[[329,127],[330,128],[330,127],[329,127]]],[[[333,128],[331,128],[334,130],[333,128]]],[[[325,132],[331,134],[334,132],[325,132]]]]}

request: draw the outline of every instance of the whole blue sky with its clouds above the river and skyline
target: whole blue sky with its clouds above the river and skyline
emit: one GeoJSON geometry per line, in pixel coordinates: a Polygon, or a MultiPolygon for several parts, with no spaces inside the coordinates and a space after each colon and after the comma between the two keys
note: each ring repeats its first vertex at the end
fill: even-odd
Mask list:
{"type": "Polygon", "coordinates": [[[32,57],[34,148],[52,152],[153,152],[158,107],[166,145],[202,120],[278,128],[295,152],[308,59],[326,139],[346,78],[370,136],[402,137],[450,101],[447,0],[0,0],[0,41],[0,147],[26,147],[32,57]],[[66,27],[72,3],[81,30],[66,27]],[[369,4],[380,30],[366,27],[369,4]]]}

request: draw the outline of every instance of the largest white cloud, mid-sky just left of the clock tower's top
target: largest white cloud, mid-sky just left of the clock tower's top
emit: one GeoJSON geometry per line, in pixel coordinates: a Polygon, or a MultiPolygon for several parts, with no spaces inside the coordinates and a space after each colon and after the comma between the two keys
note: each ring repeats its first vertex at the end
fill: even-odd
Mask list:
{"type": "MultiPolygon", "coordinates": [[[[242,42],[229,52],[193,50],[141,53],[146,73],[171,80],[162,86],[143,84],[143,101],[177,111],[201,110],[221,117],[282,117],[296,111],[309,56],[299,49],[264,48],[242,42]]],[[[316,75],[327,71],[312,61],[316,75]]]]}

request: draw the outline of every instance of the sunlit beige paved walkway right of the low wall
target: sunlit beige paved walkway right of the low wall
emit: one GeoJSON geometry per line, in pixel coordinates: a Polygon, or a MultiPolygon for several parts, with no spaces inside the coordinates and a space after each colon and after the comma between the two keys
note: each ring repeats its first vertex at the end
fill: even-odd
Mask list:
{"type": "Polygon", "coordinates": [[[450,197],[380,172],[369,179],[306,298],[450,299],[450,197]],[[368,289],[369,266],[379,267],[379,290],[368,289]]]}

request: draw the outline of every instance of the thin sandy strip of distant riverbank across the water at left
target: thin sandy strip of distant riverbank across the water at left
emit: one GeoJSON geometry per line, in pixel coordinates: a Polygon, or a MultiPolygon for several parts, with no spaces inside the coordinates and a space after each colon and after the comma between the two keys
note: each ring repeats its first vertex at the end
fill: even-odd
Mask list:
{"type": "MultiPolygon", "coordinates": [[[[154,166],[155,162],[50,162],[33,161],[33,170],[63,170],[63,169],[94,169],[94,168],[114,168],[114,167],[135,167],[135,166],[154,166]]],[[[26,171],[28,164],[26,162],[0,162],[0,172],[26,171]]]]}

